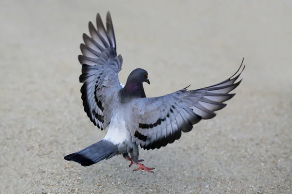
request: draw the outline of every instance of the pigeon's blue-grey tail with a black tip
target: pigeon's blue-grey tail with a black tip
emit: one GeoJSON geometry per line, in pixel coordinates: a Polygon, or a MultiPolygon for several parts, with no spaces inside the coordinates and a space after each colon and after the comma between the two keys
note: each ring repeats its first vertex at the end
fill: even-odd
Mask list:
{"type": "Polygon", "coordinates": [[[117,145],[103,139],[85,149],[65,156],[64,159],[67,161],[78,162],[82,166],[90,166],[104,159],[113,157],[116,155],[117,151],[117,145]]]}

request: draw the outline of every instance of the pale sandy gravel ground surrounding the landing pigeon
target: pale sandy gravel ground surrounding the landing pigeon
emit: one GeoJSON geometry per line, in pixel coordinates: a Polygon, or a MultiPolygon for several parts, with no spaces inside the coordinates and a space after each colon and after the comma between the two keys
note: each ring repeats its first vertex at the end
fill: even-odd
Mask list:
{"type": "Polygon", "coordinates": [[[1,194],[291,194],[292,1],[30,1],[0,6],[1,194]],[[63,159],[102,139],[83,111],[82,33],[110,10],[120,80],[145,68],[148,97],[231,76],[237,95],[174,144],[82,167],[63,159]]]}

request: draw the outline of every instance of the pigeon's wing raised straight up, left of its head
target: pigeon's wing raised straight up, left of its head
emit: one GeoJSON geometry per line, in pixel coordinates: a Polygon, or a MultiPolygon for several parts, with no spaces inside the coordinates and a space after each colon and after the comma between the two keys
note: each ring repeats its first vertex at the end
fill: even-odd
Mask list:
{"type": "Polygon", "coordinates": [[[110,123],[116,93],[122,86],[118,78],[123,59],[117,56],[116,42],[110,13],[107,13],[105,29],[99,14],[96,16],[97,29],[89,22],[90,36],[83,34],[85,44],[80,45],[83,55],[78,56],[82,65],[79,81],[84,111],[95,126],[106,129],[110,123]]]}

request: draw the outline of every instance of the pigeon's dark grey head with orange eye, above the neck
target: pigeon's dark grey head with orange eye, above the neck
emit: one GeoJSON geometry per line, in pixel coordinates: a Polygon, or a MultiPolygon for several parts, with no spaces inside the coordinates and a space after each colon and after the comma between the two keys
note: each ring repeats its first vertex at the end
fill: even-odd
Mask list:
{"type": "Polygon", "coordinates": [[[128,76],[126,85],[128,83],[131,85],[135,85],[135,84],[140,85],[143,82],[147,82],[148,84],[150,84],[150,81],[148,79],[148,72],[144,69],[137,68],[137,69],[134,69],[128,76]]]}

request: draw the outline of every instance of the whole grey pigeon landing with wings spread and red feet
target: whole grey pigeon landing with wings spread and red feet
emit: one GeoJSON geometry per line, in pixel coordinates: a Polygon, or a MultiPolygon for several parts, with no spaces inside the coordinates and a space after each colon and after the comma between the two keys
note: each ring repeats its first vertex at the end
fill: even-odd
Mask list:
{"type": "Polygon", "coordinates": [[[146,97],[143,83],[150,84],[146,70],[134,69],[125,85],[119,81],[123,58],[116,52],[110,12],[106,28],[97,14],[96,27],[89,22],[90,36],[83,34],[83,55],[78,56],[82,65],[79,81],[83,83],[84,111],[95,126],[108,132],[101,141],[64,159],[90,166],[123,155],[130,162],[129,167],[137,165],[134,171],[154,173],[154,168],[139,160],[139,146],[159,149],[179,140],[182,132],[191,131],[201,120],[214,118],[214,112],[226,106],[223,102],[235,96],[229,92],[242,80],[237,81],[245,67],[244,58],[233,76],[215,85],[197,90],[188,90],[188,86],[165,96],[146,97]]]}

